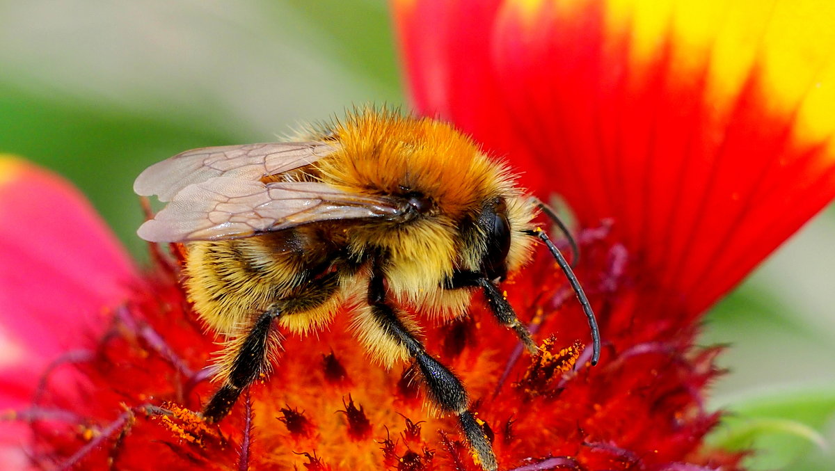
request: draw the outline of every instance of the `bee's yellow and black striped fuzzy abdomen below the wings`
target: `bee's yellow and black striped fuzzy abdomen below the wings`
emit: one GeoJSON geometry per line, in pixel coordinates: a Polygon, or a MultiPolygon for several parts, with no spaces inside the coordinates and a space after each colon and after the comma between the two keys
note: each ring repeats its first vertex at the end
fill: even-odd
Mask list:
{"type": "Polygon", "coordinates": [[[195,309],[223,334],[235,334],[276,305],[296,314],[291,328],[323,322],[336,304],[337,277],[329,271],[338,247],[318,239],[306,228],[190,244],[185,286],[195,309]]]}

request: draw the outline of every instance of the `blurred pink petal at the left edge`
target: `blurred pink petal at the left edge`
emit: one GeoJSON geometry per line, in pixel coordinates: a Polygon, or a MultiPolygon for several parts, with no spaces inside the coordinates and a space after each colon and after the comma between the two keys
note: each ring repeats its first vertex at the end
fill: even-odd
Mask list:
{"type": "MultiPolygon", "coordinates": [[[[78,190],[8,155],[0,155],[0,221],[0,409],[8,410],[32,403],[62,352],[92,344],[106,325],[99,312],[124,300],[136,275],[78,190]]],[[[71,389],[77,378],[58,367],[49,381],[71,389]]],[[[27,437],[25,425],[3,423],[0,468],[26,463],[14,445],[27,437]]]]}

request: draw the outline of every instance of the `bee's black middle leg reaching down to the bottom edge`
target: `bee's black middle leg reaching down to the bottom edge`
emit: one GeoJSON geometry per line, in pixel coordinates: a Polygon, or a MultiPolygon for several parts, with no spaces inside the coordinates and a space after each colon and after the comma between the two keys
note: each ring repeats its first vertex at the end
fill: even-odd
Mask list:
{"type": "Polygon", "coordinates": [[[441,362],[426,352],[423,344],[415,338],[398,317],[396,307],[386,300],[386,288],[380,267],[375,266],[368,284],[368,305],[376,328],[386,337],[406,348],[409,355],[417,362],[426,382],[429,398],[445,412],[455,413],[461,424],[470,447],[478,456],[481,466],[488,471],[498,468],[493,445],[490,444],[484,429],[478,425],[473,413],[468,409],[467,391],[461,380],[441,362]]]}

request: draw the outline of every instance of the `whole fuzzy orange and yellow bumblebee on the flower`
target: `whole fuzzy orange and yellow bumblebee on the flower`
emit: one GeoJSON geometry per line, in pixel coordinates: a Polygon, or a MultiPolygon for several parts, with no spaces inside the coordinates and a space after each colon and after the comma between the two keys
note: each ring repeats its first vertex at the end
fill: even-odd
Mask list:
{"type": "MultiPolygon", "coordinates": [[[[420,341],[404,310],[465,313],[482,291],[497,321],[535,352],[498,284],[544,242],[594,315],[570,267],[534,218],[544,209],[509,169],[450,124],[373,109],[300,142],[195,149],[139,175],[134,190],[168,202],[139,228],[146,241],[185,244],[185,287],[203,322],[224,337],[205,405],[224,418],[266,376],[278,327],[304,335],[349,306],[371,357],[412,360],[428,400],[458,417],[483,468],[498,467],[462,382],[420,341]],[[277,326],[276,326],[277,325],[277,326]]],[[[553,215],[546,210],[546,213],[553,215]]]]}

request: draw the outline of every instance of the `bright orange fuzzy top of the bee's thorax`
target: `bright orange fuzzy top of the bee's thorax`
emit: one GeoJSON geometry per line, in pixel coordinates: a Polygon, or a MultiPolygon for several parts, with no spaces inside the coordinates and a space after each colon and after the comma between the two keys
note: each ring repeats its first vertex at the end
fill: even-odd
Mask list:
{"type": "Polygon", "coordinates": [[[395,195],[405,187],[457,218],[491,195],[507,195],[513,185],[504,165],[443,121],[366,112],[334,130],[341,149],[316,166],[326,183],[343,190],[395,195]]]}

